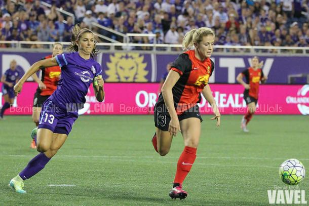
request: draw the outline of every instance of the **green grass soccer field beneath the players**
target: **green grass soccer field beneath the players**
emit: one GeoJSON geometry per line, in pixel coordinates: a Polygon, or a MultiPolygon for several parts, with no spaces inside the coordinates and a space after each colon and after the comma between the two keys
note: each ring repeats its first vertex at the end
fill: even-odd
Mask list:
{"type": "MultiPolygon", "coordinates": [[[[308,116],[254,116],[240,130],[240,115],[215,127],[203,116],[197,159],[184,182],[188,196],[172,200],[180,134],[167,156],[150,142],[153,117],[80,116],[64,146],[44,170],[25,181],[27,193],[8,187],[38,152],[29,148],[30,116],[0,121],[0,205],[266,205],[267,190],[285,186],[279,166],[297,158],[309,169],[308,116]]],[[[309,195],[309,179],[299,184],[309,195]]]]}

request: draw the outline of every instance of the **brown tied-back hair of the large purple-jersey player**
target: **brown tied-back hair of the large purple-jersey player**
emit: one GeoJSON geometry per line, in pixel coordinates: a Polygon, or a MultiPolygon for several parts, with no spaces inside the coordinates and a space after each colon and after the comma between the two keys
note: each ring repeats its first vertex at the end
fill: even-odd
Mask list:
{"type": "MultiPolygon", "coordinates": [[[[92,33],[93,32],[90,29],[84,28],[82,29],[80,27],[80,24],[75,24],[74,27],[72,28],[72,34],[71,34],[71,44],[67,47],[67,50],[70,52],[78,52],[79,51],[79,46],[76,44],[76,41],[80,40],[81,36],[84,33],[92,33]]],[[[91,51],[91,58],[94,58],[97,56],[98,50],[96,50],[96,41],[94,41],[94,48],[91,51]]]]}

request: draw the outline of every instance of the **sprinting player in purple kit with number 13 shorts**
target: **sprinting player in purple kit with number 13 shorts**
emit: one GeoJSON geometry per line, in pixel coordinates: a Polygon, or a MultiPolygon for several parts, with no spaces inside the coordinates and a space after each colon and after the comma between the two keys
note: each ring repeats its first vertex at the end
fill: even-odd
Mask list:
{"type": "Polygon", "coordinates": [[[56,91],[44,102],[37,130],[37,151],[26,168],[10,181],[9,186],[18,193],[25,193],[24,180],[40,172],[64,144],[78,118],[78,109],[83,108],[88,88],[93,83],[96,99],[104,100],[104,81],[101,66],[93,59],[96,55],[94,34],[90,29],[75,25],[71,35],[69,54],[35,62],[14,87],[20,93],[23,83],[40,67],[61,67],[61,79],[56,91]]]}

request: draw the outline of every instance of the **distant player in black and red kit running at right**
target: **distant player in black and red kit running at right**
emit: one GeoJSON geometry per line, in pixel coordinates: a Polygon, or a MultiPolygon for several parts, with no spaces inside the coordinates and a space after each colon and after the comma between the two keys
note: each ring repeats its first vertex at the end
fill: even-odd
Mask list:
{"type": "Polygon", "coordinates": [[[264,76],[261,69],[262,66],[263,61],[259,62],[259,58],[255,56],[252,59],[252,67],[249,67],[248,69],[239,73],[236,78],[237,81],[245,88],[244,100],[248,106],[247,113],[243,116],[241,121],[241,129],[244,132],[249,132],[247,125],[256,109],[260,81],[261,83],[265,83],[267,79],[267,76],[264,76]],[[243,77],[246,78],[246,82],[243,80],[243,77]]]}

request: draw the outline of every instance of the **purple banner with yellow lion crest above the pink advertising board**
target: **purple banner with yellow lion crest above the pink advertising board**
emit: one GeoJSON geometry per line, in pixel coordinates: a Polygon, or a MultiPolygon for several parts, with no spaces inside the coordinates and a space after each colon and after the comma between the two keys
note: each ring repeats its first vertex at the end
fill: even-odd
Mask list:
{"type": "MultiPolygon", "coordinates": [[[[50,53],[0,52],[0,75],[15,59],[23,72],[30,65],[50,53]]],[[[100,53],[97,61],[102,65],[106,82],[159,82],[166,72],[166,65],[178,55],[144,54],[136,52],[100,53]]],[[[250,66],[252,56],[213,55],[215,71],[210,83],[236,83],[236,76],[250,66]]],[[[288,75],[309,73],[308,57],[259,56],[264,61],[263,72],[268,84],[288,84],[288,75]]],[[[29,79],[32,80],[32,79],[29,79]]]]}

